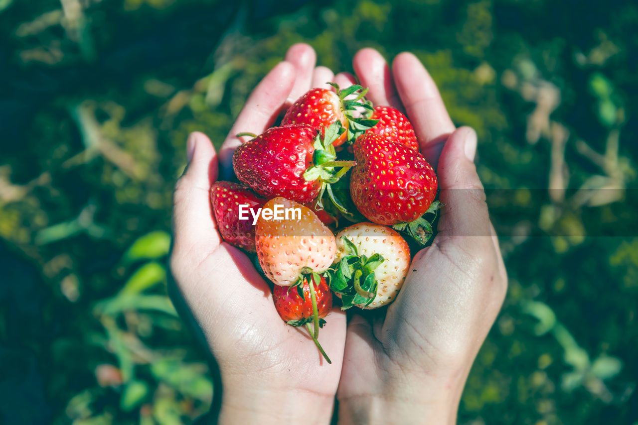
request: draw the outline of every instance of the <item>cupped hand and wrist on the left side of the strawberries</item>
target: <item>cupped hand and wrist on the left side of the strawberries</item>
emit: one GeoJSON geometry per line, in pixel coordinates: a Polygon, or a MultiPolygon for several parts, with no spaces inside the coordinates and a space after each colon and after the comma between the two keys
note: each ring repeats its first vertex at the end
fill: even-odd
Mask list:
{"type": "Polygon", "coordinates": [[[188,167],[174,193],[172,298],[219,366],[219,423],[314,424],[328,423],[332,415],[345,314],[330,312],[320,332],[332,358],[327,364],[305,328],[279,318],[271,289],[249,257],[221,239],[209,190],[218,175],[229,175],[234,148],[248,140],[235,134],[263,133],[279,111],[333,77],[329,69],[315,68],[312,48],[294,45],[253,91],[219,155],[202,133],[187,143],[188,167]]]}

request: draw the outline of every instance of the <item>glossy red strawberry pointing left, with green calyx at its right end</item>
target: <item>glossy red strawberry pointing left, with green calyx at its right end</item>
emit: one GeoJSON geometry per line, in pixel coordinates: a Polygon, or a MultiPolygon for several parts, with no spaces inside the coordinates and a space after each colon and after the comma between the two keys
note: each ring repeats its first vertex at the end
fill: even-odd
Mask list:
{"type": "Polygon", "coordinates": [[[354,165],[335,161],[332,141],[344,131],[340,123],[332,124],[323,137],[305,124],[272,127],[235,149],[235,174],[265,198],[313,201],[354,165]]]}

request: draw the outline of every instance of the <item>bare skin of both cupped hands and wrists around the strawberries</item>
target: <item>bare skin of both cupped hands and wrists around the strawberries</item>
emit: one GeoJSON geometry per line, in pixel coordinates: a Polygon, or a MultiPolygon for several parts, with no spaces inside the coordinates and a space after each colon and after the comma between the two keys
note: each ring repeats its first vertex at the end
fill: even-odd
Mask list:
{"type": "MultiPolygon", "coordinates": [[[[500,310],[507,275],[473,163],[477,140],[456,129],[436,85],[412,54],[392,67],[373,49],[353,66],[375,104],[410,118],[422,153],[437,169],[441,211],[431,247],[413,259],[388,308],[326,317],[319,341],[287,326],[251,261],[223,240],[212,219],[209,188],[232,152],[262,133],[278,112],[311,87],[352,83],[346,73],[315,67],[311,47],[290,47],[256,87],[217,154],[201,133],[189,137],[189,164],[174,193],[169,289],[178,310],[212,355],[219,388],[212,408],[220,424],[327,424],[339,400],[340,424],[452,424],[464,382],[500,310]],[[418,82],[418,83],[416,83],[418,82]],[[459,190],[457,190],[459,189],[459,190]]],[[[211,418],[212,420],[212,418],[211,418]]]]}

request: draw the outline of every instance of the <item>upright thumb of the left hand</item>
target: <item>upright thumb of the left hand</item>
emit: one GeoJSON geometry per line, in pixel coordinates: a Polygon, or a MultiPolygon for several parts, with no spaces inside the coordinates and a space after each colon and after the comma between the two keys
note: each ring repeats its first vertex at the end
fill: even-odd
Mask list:
{"type": "Polygon", "coordinates": [[[217,180],[218,163],[211,140],[191,133],[186,143],[189,162],[173,194],[172,226],[175,252],[195,252],[205,246],[207,253],[221,242],[210,201],[211,185],[217,180]]]}

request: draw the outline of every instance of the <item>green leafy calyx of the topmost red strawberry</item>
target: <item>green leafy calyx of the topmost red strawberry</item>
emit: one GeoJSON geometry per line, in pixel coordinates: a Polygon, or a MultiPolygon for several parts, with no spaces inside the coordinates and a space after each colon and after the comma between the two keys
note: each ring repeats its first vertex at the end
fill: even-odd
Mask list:
{"type": "Polygon", "coordinates": [[[372,103],[366,100],[367,87],[364,89],[359,84],[353,84],[346,89],[341,90],[336,83],[329,83],[337,90],[337,95],[341,101],[341,110],[346,115],[348,120],[348,143],[354,143],[357,138],[366,132],[367,129],[371,129],[376,126],[379,120],[370,119],[371,115],[375,112],[372,103]],[[351,94],[357,94],[354,99],[346,99],[351,94]],[[354,114],[360,109],[363,109],[360,117],[355,117],[354,114]]]}

